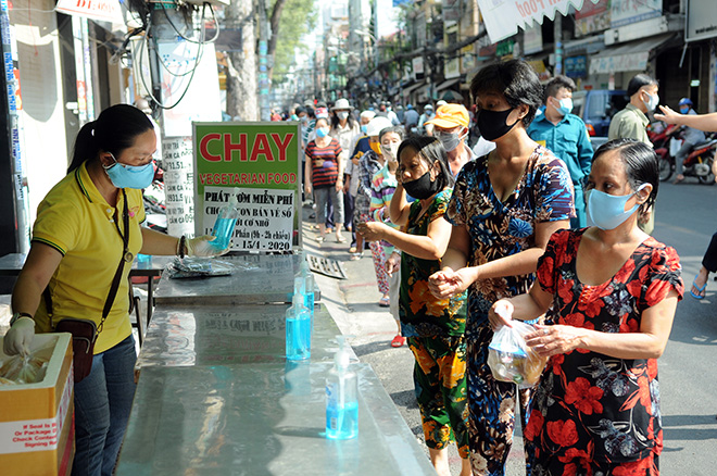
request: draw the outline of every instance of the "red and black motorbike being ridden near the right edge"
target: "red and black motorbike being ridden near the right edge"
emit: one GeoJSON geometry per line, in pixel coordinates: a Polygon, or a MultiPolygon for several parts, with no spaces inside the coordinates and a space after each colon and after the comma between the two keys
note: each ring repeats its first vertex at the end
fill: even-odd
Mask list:
{"type": "MultiPolygon", "coordinates": [[[[679,145],[674,143],[674,141],[678,140],[680,139],[674,126],[668,127],[663,134],[656,135],[653,139],[655,154],[659,163],[661,181],[669,180],[675,173],[675,154],[676,150],[679,150],[679,145]]],[[[682,175],[696,177],[701,184],[713,185],[715,174],[712,172],[712,164],[715,160],[715,151],[717,151],[717,137],[715,135],[707,136],[707,140],[695,145],[684,159],[682,175]]]]}

